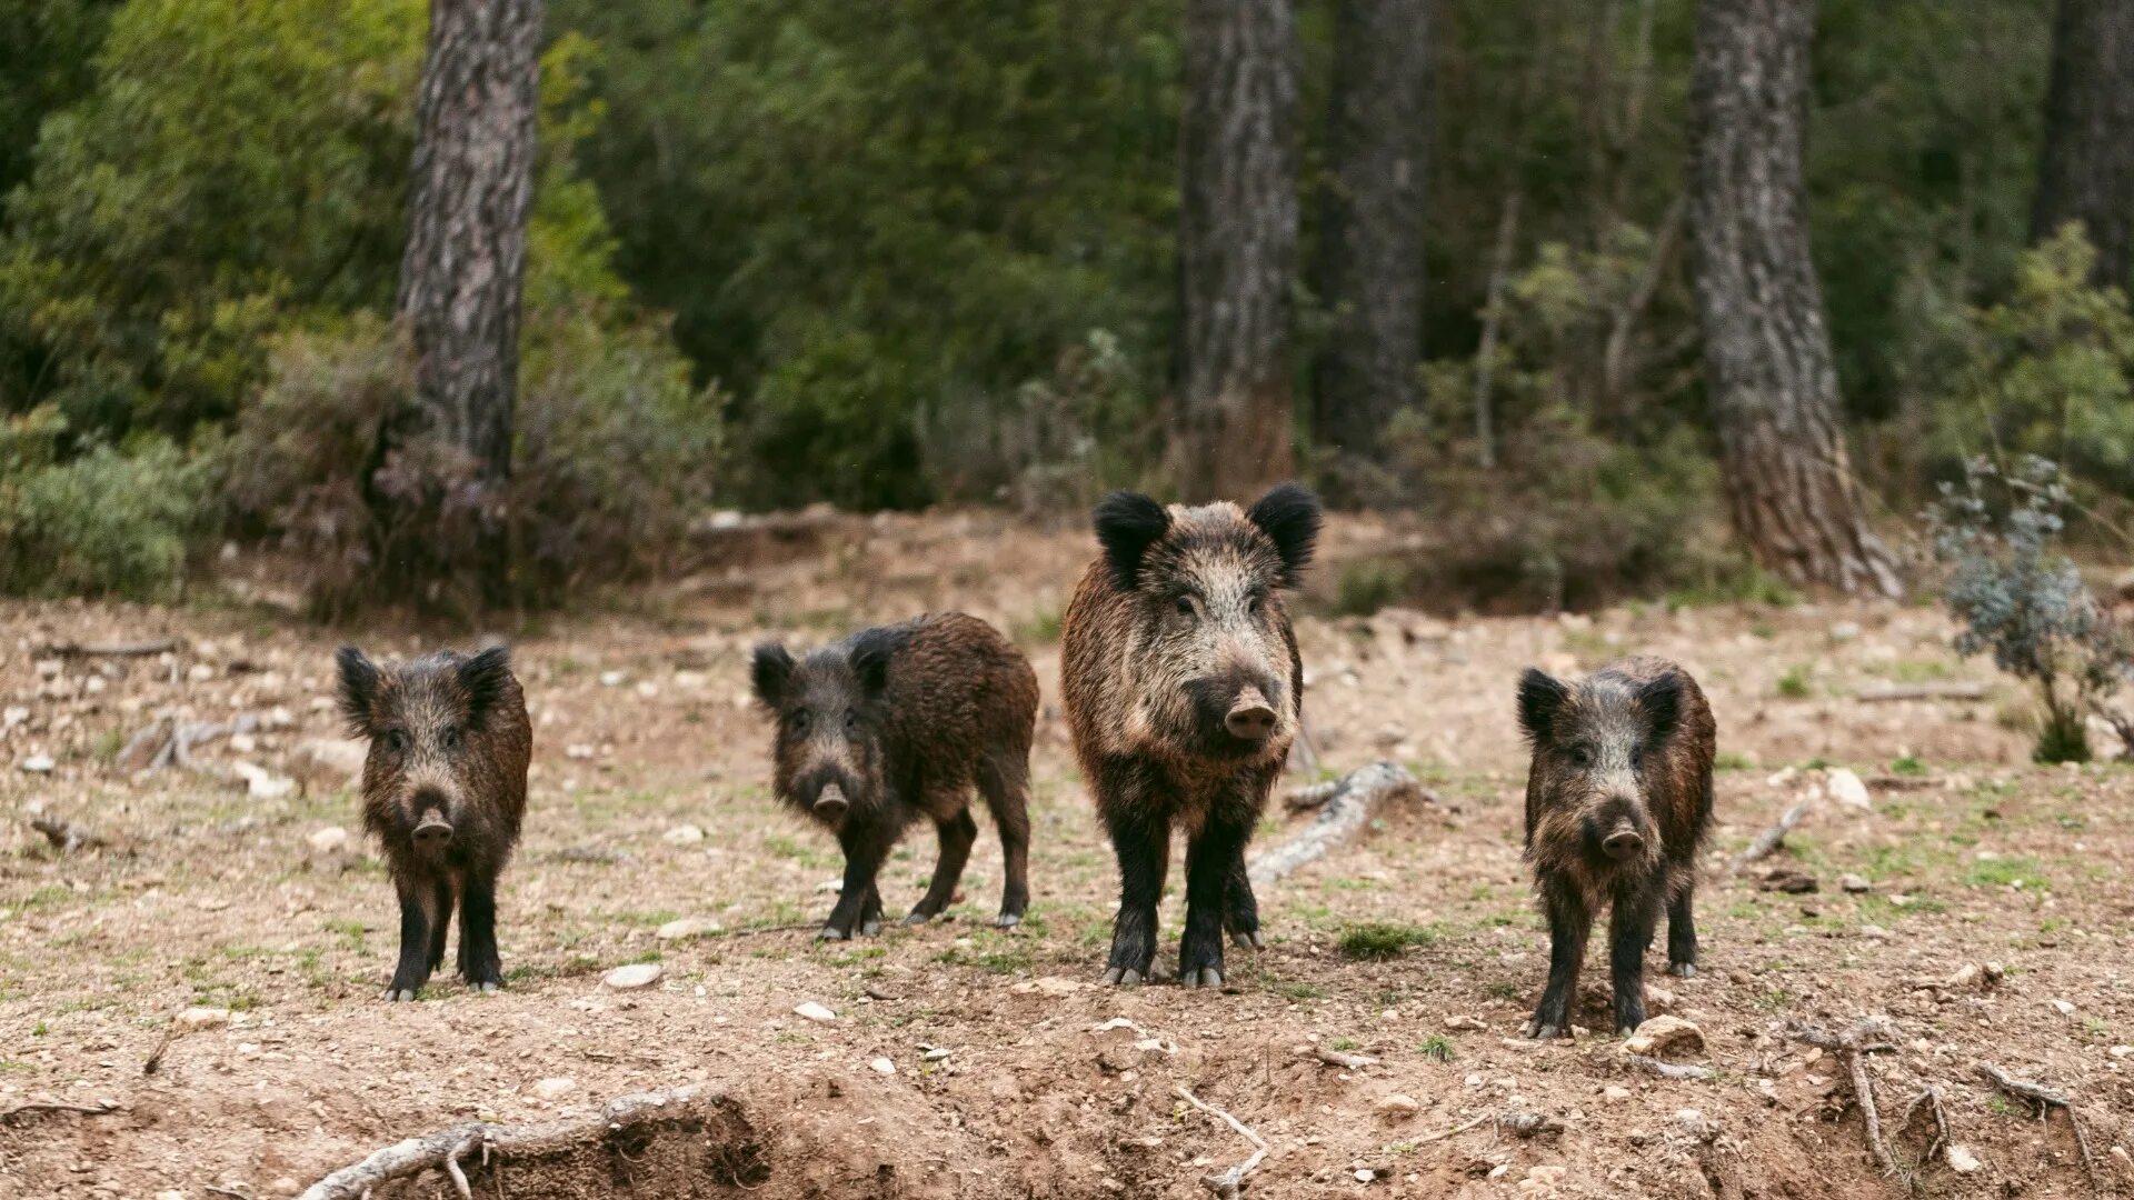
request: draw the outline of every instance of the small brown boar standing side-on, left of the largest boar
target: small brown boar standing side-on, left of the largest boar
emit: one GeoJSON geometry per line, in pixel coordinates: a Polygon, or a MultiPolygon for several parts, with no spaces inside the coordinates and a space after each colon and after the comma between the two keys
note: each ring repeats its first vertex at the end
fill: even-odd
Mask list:
{"type": "Polygon", "coordinates": [[[977,841],[973,786],[1007,858],[997,925],[1022,920],[1037,673],[992,626],[930,613],[862,630],[800,662],[766,643],[755,647],[755,698],[777,717],[773,790],[845,850],[845,886],[817,937],[881,931],[875,873],[920,816],[941,835],[941,860],[905,922],[939,916],[977,841]]]}

